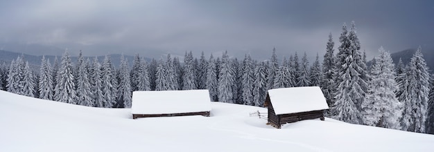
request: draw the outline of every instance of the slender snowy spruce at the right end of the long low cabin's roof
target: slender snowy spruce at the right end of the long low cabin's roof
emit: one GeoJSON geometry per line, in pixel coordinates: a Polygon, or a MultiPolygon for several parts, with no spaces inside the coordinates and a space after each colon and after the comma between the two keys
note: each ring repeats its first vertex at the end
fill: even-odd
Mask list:
{"type": "Polygon", "coordinates": [[[209,57],[208,68],[207,68],[207,82],[205,83],[209,91],[209,98],[212,102],[218,101],[217,99],[217,66],[216,60],[214,60],[213,55],[209,57]]]}

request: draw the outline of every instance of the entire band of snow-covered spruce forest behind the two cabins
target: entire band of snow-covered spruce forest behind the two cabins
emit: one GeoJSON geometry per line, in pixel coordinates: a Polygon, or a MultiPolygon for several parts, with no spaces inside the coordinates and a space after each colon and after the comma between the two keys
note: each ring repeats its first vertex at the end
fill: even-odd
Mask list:
{"type": "Polygon", "coordinates": [[[0,66],[0,89],[41,99],[105,108],[130,108],[132,91],[208,89],[211,101],[263,106],[272,88],[320,86],[330,109],[326,115],[353,124],[365,124],[419,133],[434,133],[434,87],[422,48],[404,65],[393,64],[382,47],[366,66],[366,55],[356,33],[344,23],[334,53],[330,34],[322,63],[309,64],[306,53],[279,61],[276,49],[270,59],[258,61],[245,55],[242,61],[229,57],[178,57],[147,62],[135,55],[132,68],[121,57],[114,68],[110,56],[103,61],[85,59],[81,51],[73,65],[68,51],[53,64],[42,58],[33,71],[24,57],[0,66]]]}

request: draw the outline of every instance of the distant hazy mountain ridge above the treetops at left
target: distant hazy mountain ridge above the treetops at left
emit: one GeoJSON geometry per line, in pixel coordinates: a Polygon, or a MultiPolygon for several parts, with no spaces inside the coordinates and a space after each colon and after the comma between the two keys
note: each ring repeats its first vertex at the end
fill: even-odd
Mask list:
{"type": "MultiPolygon", "coordinates": [[[[28,54],[24,54],[24,53],[15,53],[15,52],[11,52],[11,51],[7,51],[7,50],[0,50],[0,64],[3,63],[3,61],[5,61],[6,63],[10,63],[12,61],[12,59],[17,59],[17,57],[23,55],[24,59],[26,61],[28,61],[28,64],[31,64],[32,67],[37,68],[40,66],[41,64],[41,60],[42,60],[42,55],[28,55],[28,54]]],[[[89,58],[90,61],[94,61],[95,57],[88,57],[86,55],[85,59],[89,58]]],[[[125,57],[125,59],[128,59],[128,65],[132,66],[132,62],[134,61],[134,57],[130,56],[130,55],[123,55],[125,57]]],[[[98,61],[100,61],[100,63],[103,62],[105,55],[101,55],[98,56],[98,61]]],[[[71,61],[75,64],[77,61],[78,57],[71,57],[71,61]]],[[[121,64],[121,55],[120,54],[111,54],[110,58],[112,59],[112,64],[115,67],[118,67],[121,64]]],[[[49,59],[50,60],[50,64],[51,66],[53,66],[54,63],[54,59],[55,56],[54,55],[45,55],[45,59],[49,59]]],[[[58,61],[60,63],[60,60],[62,59],[61,56],[58,56],[58,61]]],[[[151,59],[144,57],[144,59],[146,61],[150,61],[151,59]]],[[[92,63],[91,63],[92,64],[92,63]]]]}

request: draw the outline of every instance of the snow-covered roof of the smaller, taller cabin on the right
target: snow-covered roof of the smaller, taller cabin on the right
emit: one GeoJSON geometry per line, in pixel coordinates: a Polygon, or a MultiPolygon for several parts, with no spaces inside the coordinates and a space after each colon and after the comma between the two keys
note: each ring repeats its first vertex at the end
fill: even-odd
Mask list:
{"type": "Polygon", "coordinates": [[[275,88],[268,91],[276,115],[328,109],[318,86],[275,88]]]}

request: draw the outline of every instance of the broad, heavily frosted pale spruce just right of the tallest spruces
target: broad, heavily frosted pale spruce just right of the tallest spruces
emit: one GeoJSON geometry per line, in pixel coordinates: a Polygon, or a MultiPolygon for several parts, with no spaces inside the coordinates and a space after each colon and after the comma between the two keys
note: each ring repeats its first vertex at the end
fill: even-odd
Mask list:
{"type": "Polygon", "coordinates": [[[401,106],[394,92],[398,86],[395,82],[394,64],[390,53],[383,47],[376,57],[371,69],[371,80],[365,102],[362,104],[363,122],[370,126],[399,129],[401,106]]]}

